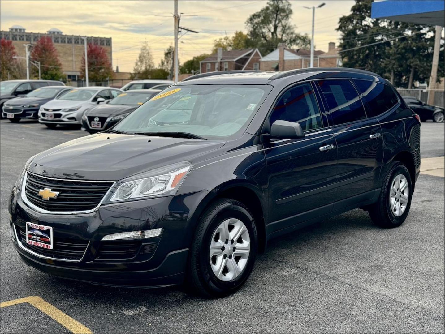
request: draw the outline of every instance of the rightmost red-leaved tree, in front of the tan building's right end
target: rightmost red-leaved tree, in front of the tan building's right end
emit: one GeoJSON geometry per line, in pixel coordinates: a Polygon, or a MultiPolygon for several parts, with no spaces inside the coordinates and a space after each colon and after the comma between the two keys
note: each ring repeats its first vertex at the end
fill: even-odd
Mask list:
{"type": "MultiPolygon", "coordinates": [[[[105,48],[88,43],[88,80],[90,82],[102,82],[113,78],[113,69],[105,48]]],[[[85,55],[81,61],[81,78],[85,80],[85,55]]]]}

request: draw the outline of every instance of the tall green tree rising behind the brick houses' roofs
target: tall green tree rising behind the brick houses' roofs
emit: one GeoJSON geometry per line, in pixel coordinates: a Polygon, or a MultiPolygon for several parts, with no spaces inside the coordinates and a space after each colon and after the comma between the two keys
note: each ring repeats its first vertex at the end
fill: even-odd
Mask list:
{"type": "Polygon", "coordinates": [[[292,8],[287,0],[269,0],[266,7],[253,13],[246,21],[247,35],[261,52],[275,50],[279,43],[288,48],[309,48],[311,40],[295,32],[291,23],[292,8]]]}

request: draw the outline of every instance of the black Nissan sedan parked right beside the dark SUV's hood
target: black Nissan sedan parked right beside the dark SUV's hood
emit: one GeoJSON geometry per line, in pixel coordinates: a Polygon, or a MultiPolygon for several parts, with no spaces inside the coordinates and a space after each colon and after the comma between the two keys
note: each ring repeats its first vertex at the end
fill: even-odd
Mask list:
{"type": "Polygon", "coordinates": [[[161,91],[161,89],[135,89],[121,93],[109,103],[85,111],[82,116],[82,127],[89,133],[109,129],[161,91]]]}

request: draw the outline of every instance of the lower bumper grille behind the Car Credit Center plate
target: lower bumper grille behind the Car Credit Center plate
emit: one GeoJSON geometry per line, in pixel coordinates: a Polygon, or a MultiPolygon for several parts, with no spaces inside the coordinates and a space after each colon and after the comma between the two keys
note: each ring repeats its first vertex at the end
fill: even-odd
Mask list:
{"type": "Polygon", "coordinates": [[[88,240],[61,238],[53,236],[53,249],[40,248],[26,243],[26,231],[16,225],[16,233],[22,245],[42,256],[49,258],[56,258],[60,260],[74,260],[79,261],[85,254],[85,249],[88,246],[88,240]]]}

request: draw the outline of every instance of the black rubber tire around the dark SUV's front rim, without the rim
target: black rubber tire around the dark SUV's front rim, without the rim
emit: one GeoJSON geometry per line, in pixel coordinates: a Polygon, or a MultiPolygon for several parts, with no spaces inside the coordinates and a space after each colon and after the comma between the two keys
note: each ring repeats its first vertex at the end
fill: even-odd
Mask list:
{"type": "Polygon", "coordinates": [[[194,233],[187,268],[187,285],[204,298],[220,298],[233,294],[247,281],[255,264],[258,236],[255,220],[243,203],[219,199],[206,209],[194,233]],[[215,229],[228,218],[238,218],[246,226],[251,243],[250,254],[243,272],[225,282],[217,278],[210,266],[210,242],[215,229]]]}

